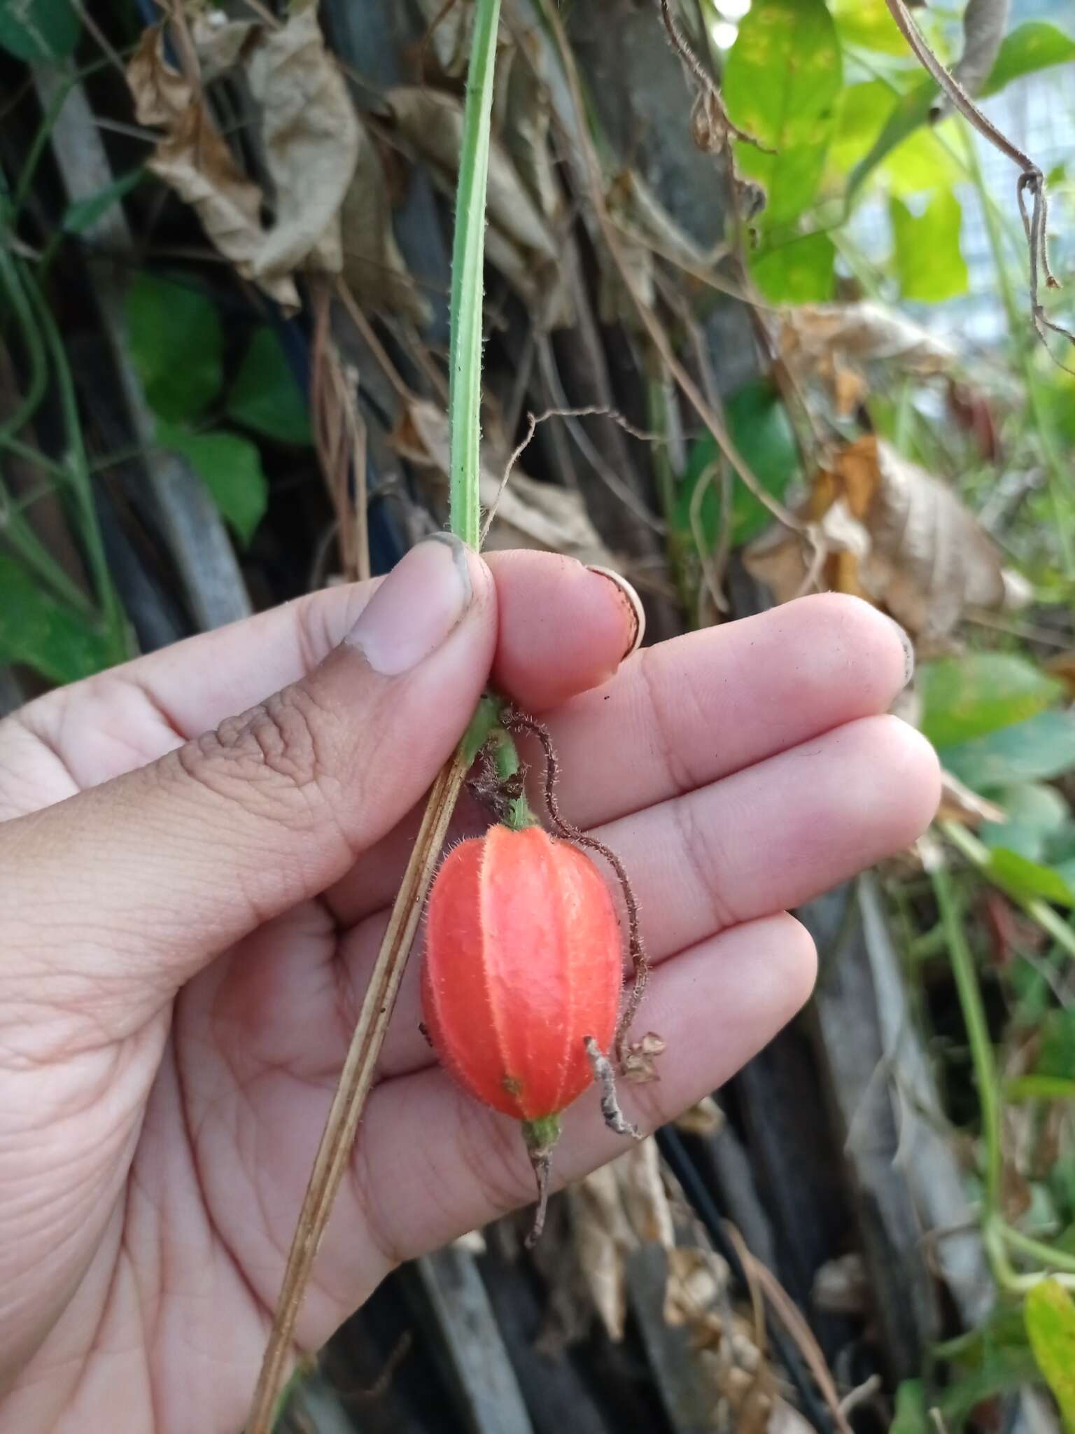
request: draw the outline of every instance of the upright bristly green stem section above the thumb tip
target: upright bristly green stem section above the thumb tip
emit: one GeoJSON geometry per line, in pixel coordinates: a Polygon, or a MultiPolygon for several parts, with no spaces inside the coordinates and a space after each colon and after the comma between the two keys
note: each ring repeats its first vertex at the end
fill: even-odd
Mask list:
{"type": "Polygon", "coordinates": [[[484,297],[486,182],[493,67],[500,0],[477,0],[470,73],[459,156],[456,234],[452,254],[452,531],[477,548],[482,541],[479,493],[482,442],[482,300],[484,297]]]}

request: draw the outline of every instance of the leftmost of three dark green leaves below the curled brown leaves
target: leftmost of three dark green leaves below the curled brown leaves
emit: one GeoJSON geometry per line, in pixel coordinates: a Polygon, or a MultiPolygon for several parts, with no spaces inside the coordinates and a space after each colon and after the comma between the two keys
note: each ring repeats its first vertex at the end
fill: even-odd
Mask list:
{"type": "Polygon", "coordinates": [[[158,417],[182,423],[216,397],[224,327],[214,304],[189,284],[135,275],[126,295],[130,357],[158,417]]]}

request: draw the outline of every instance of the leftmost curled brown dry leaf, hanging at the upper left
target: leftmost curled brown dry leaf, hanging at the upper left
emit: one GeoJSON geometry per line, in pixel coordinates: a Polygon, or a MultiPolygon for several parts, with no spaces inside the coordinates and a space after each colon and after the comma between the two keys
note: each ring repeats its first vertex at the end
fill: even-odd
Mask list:
{"type": "MultiPolygon", "coordinates": [[[[173,69],[163,53],[163,27],[149,26],[126,70],[140,125],[165,129],[149,168],[196,211],[209,239],[244,278],[255,277],[265,244],[262,194],[235,163],[201,92],[173,69]]],[[[284,308],[298,307],[298,291],[287,275],[261,280],[284,308]]]]}

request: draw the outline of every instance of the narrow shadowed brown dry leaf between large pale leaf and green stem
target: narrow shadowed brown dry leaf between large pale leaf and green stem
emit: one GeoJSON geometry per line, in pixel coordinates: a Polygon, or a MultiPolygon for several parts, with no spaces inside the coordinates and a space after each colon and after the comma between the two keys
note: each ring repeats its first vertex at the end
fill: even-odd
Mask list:
{"type": "Polygon", "coordinates": [[[363,307],[427,324],[430,307],[416,288],[396,242],[388,182],[377,143],[366,126],[358,129],[355,169],[340,224],[344,278],[363,307]]]}

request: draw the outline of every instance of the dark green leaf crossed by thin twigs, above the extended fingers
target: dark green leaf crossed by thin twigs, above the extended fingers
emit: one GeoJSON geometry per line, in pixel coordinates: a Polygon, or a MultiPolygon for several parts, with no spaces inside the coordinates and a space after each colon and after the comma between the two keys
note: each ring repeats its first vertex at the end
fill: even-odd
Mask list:
{"type": "MultiPolygon", "coordinates": [[[[787,410],[775,389],[764,379],[744,384],[727,402],[725,417],[732,443],[740,450],[754,476],[767,493],[783,499],[798,466],[796,435],[787,410]]],[[[677,495],[675,525],[682,541],[695,546],[691,526],[691,503],[705,472],[717,462],[718,450],[707,433],[691,450],[689,462],[677,495]]],[[[765,505],[735,479],[731,502],[731,542],[737,548],[757,536],[770,521],[765,505]]],[[[698,505],[698,522],[705,535],[707,551],[717,546],[721,529],[720,483],[710,485],[698,505]]]]}

